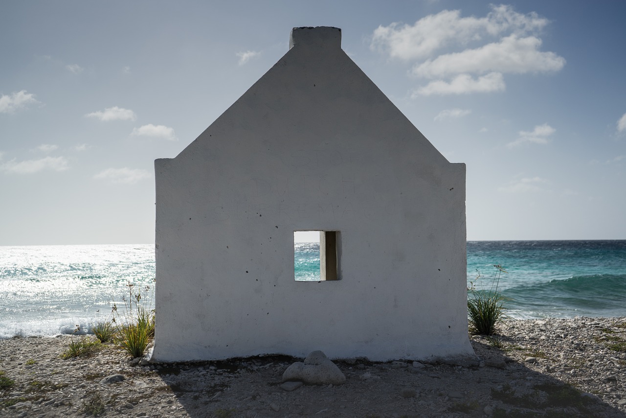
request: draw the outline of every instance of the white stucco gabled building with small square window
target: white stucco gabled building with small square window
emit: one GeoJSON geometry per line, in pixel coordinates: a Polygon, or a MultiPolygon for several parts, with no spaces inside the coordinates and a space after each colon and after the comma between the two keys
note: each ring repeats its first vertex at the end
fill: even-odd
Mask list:
{"type": "Polygon", "coordinates": [[[294,28],[289,51],[155,170],[153,359],[474,358],[465,165],[341,50],[341,29],[294,28]],[[327,280],[294,280],[294,231],[326,231],[327,280]]]}

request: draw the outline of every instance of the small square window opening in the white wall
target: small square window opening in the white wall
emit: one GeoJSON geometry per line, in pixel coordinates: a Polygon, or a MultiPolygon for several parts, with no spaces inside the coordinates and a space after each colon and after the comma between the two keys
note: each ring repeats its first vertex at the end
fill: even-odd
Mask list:
{"type": "Polygon", "coordinates": [[[338,238],[338,231],[294,231],[295,280],[339,280],[338,238]]]}

